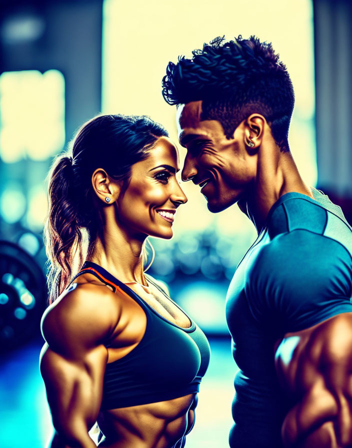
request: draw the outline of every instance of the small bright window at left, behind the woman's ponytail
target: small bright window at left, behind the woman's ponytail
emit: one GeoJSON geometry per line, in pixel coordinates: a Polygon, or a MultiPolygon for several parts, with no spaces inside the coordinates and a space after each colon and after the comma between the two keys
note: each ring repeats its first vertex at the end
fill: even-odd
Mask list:
{"type": "Polygon", "coordinates": [[[45,160],[65,142],[64,78],[58,70],[0,75],[0,157],[45,160]]]}

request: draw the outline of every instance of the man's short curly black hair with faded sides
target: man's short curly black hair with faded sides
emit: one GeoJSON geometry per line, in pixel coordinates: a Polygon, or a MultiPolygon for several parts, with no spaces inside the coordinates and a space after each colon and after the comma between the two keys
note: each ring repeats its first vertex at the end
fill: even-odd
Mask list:
{"type": "Polygon", "coordinates": [[[224,41],[216,37],[193,56],[169,62],[162,95],[169,104],[202,100],[201,119],[221,123],[227,138],[251,113],[262,114],[281,151],[288,151],[293,86],[271,43],[255,36],[224,41]]]}

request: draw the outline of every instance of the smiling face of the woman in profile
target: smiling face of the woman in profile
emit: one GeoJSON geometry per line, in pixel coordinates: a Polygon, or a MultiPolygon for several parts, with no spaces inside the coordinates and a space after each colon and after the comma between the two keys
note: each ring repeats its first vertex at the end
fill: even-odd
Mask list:
{"type": "Polygon", "coordinates": [[[167,137],[159,137],[148,157],[131,166],[127,189],[116,201],[117,219],[128,232],[171,238],[176,208],[187,201],[178,170],[177,149],[167,137]]]}

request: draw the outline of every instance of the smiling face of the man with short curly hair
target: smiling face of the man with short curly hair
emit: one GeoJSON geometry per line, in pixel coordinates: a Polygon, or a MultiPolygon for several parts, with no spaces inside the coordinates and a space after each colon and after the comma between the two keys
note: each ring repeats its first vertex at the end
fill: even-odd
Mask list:
{"type": "Polygon", "coordinates": [[[200,186],[208,209],[216,213],[244,199],[256,164],[244,145],[244,123],[227,139],[219,121],[200,120],[201,101],[178,106],[178,138],[187,149],[182,180],[200,186]]]}

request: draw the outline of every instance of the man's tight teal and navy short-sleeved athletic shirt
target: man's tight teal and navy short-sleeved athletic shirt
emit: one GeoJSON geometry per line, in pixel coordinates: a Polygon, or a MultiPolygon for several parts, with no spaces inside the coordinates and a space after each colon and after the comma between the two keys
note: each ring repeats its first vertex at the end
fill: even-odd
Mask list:
{"type": "Polygon", "coordinates": [[[280,448],[288,403],[274,368],[273,346],[333,315],[352,312],[352,229],[326,195],[289,192],[231,280],[226,319],[233,358],[231,448],[280,448]]]}

